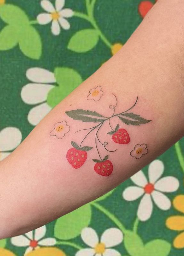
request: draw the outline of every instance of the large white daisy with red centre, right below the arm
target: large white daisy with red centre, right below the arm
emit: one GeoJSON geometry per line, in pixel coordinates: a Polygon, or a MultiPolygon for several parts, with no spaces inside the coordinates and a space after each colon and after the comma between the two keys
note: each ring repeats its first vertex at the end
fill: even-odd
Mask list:
{"type": "Polygon", "coordinates": [[[168,210],[171,201],[162,192],[174,192],[179,188],[179,181],[172,176],[160,178],[164,172],[164,164],[160,160],[153,161],[148,168],[149,181],[142,171],[131,177],[136,186],[130,186],[123,192],[127,201],[134,201],[142,196],[137,216],[141,221],[148,220],[153,211],[153,201],[161,210],[168,210]]]}

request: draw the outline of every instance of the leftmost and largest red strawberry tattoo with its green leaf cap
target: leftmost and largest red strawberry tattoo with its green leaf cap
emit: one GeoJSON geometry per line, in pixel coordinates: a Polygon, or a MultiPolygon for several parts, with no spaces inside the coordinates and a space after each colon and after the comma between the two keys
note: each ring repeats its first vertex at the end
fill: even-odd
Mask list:
{"type": "Polygon", "coordinates": [[[76,142],[71,141],[73,148],[68,149],[67,151],[67,160],[69,164],[75,169],[80,168],[87,159],[86,151],[91,150],[91,147],[82,147],[80,148],[76,142]]]}

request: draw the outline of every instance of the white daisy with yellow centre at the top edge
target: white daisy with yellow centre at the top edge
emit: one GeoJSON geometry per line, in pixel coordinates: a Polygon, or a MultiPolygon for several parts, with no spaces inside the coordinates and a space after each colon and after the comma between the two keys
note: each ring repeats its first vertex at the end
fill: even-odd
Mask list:
{"type": "Polygon", "coordinates": [[[56,0],[55,7],[48,0],[42,0],[41,6],[46,11],[37,16],[37,21],[41,25],[48,24],[52,21],[52,34],[59,35],[60,27],[63,29],[69,29],[70,24],[66,18],[69,18],[73,15],[71,9],[63,9],[65,0],[56,0]]]}

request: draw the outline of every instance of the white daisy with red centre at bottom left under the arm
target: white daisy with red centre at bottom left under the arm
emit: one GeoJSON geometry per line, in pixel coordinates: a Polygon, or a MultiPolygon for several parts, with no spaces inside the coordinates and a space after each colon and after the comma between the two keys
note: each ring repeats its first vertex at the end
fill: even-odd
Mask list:
{"type": "Polygon", "coordinates": [[[24,235],[14,236],[11,238],[11,242],[15,246],[28,247],[24,253],[27,254],[40,246],[53,246],[56,244],[55,238],[44,238],[46,233],[46,226],[35,229],[35,232],[30,231],[24,235]]]}

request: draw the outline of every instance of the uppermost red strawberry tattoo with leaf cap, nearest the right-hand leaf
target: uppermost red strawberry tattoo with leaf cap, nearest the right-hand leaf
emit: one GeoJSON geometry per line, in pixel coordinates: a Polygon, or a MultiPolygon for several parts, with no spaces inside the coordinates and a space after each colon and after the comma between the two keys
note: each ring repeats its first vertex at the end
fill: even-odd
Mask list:
{"type": "Polygon", "coordinates": [[[112,134],[112,140],[118,144],[128,144],[130,142],[130,136],[125,129],[119,129],[119,124],[116,125],[114,131],[108,132],[112,134]]]}

